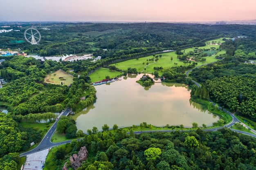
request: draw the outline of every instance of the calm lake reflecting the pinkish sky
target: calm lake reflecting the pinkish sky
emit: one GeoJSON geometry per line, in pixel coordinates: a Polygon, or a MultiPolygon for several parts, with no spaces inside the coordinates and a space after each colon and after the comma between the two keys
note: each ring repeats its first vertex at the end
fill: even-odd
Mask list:
{"type": "Polygon", "coordinates": [[[86,132],[103,124],[110,128],[139,125],[147,122],[154,126],[166,124],[191,127],[193,122],[199,126],[211,126],[219,117],[200,104],[192,102],[190,90],[184,84],[155,83],[143,87],[136,83],[142,75],[121,77],[121,81],[95,86],[97,101],[80,113],[76,113],[78,129],[86,132]]]}

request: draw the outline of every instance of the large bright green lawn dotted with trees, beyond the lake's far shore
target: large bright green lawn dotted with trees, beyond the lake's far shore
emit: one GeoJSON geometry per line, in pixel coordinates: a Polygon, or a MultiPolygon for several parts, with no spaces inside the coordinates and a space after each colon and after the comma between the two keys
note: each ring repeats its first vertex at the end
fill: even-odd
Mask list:
{"type": "MultiPolygon", "coordinates": [[[[214,41],[214,42],[223,42],[222,38],[216,39],[216,40],[211,40],[211,41],[208,41],[208,42],[211,43],[212,41],[214,41]]],[[[208,49],[210,47],[215,47],[216,49],[218,49],[220,46],[219,45],[207,45],[206,44],[205,46],[198,47],[198,49],[208,49]]],[[[189,48],[189,49],[184,49],[184,51],[185,51],[185,53],[188,53],[189,51],[193,51],[194,49],[195,49],[195,47],[189,48]]],[[[222,51],[218,52],[218,55],[223,54],[223,53],[225,53],[225,51],[222,50],[222,51]]],[[[204,57],[204,58],[206,58],[206,62],[198,62],[197,66],[217,61],[218,59],[216,59],[215,56],[216,55],[204,57]]],[[[122,70],[127,70],[127,68],[129,68],[129,67],[137,68],[137,71],[145,72],[145,73],[153,73],[155,71],[154,67],[186,66],[183,63],[183,61],[179,61],[177,59],[177,54],[175,52],[163,53],[162,57],[161,58],[159,57],[159,60],[157,62],[147,61],[148,59],[151,59],[152,57],[153,57],[153,55],[150,55],[150,56],[147,56],[147,57],[141,57],[141,58],[138,58],[138,59],[127,60],[127,61],[124,61],[124,62],[119,62],[119,63],[115,63],[115,64],[110,64],[110,65],[114,65],[117,68],[122,69],[122,70]],[[173,57],[172,61],[171,61],[171,57],[173,57]],[[175,65],[174,63],[177,63],[177,65],[175,65]],[[144,70],[144,68],[146,68],[146,70],[144,70]]],[[[161,71],[159,71],[159,74],[160,75],[162,74],[161,71]]]]}

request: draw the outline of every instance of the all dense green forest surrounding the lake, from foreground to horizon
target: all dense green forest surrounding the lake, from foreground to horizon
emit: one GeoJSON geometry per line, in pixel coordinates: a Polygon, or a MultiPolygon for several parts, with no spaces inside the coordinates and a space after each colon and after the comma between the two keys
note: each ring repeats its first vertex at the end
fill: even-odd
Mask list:
{"type": "MultiPolygon", "coordinates": [[[[27,150],[32,141],[36,143],[42,137],[40,130],[23,128],[20,121],[54,119],[53,112],[60,112],[65,107],[81,110],[95,101],[96,90],[90,85],[88,75],[97,68],[166,49],[178,49],[177,57],[185,61],[188,56],[183,55],[181,49],[204,46],[207,40],[223,35],[230,38],[246,35],[248,38],[228,40],[220,46],[227,53],[216,56],[223,58],[222,61],[193,70],[191,77],[203,85],[203,88],[195,89],[193,95],[204,99],[210,97],[238,114],[256,119],[256,65],[245,64],[248,59],[256,58],[256,26],[166,23],[24,23],[21,28],[16,26],[11,24],[10,29],[20,29],[20,32],[1,34],[1,49],[11,48],[14,51],[20,48],[29,54],[33,50],[41,56],[93,53],[94,56],[102,56],[102,60],[42,62],[32,57],[0,57],[5,59],[0,65],[0,77],[8,82],[0,88],[0,106],[9,111],[8,115],[0,113],[0,169],[15,169],[13,167],[17,167],[19,158],[14,152],[27,150]],[[23,42],[23,32],[30,26],[35,26],[42,35],[38,45],[23,42]],[[73,75],[71,86],[44,82],[47,74],[59,69],[73,75]],[[80,100],[84,92],[85,100],[80,100]]],[[[195,59],[202,62],[203,56],[207,55],[205,52],[197,50],[195,59]]],[[[184,72],[196,64],[159,67],[154,74],[158,77],[160,69],[166,82],[175,80],[191,85],[192,79],[186,78],[184,72]]],[[[124,71],[125,74],[136,72],[136,68],[124,71]]],[[[59,126],[58,131],[65,132],[67,137],[75,137],[81,132],[76,132],[73,120],[62,118],[61,121],[66,126],[59,126]]],[[[255,140],[227,129],[136,136],[132,131],[127,135],[124,130],[109,132],[107,127],[103,130],[99,133],[97,129],[89,130],[89,135],[82,141],[72,141],[71,145],[63,146],[67,147],[63,150],[60,147],[54,155],[53,169],[56,166],[61,169],[64,160],[81,146],[88,148],[90,156],[80,169],[251,170],[255,167],[255,140]]]]}

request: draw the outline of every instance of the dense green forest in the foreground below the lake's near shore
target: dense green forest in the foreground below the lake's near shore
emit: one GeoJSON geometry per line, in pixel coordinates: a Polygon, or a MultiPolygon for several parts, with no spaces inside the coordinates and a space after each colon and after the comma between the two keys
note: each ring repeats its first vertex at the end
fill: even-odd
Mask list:
{"type": "Polygon", "coordinates": [[[72,169],[69,157],[81,146],[86,146],[89,157],[77,170],[255,170],[256,166],[256,140],[228,129],[141,135],[132,130],[130,135],[121,129],[94,130],[81,141],[56,148],[45,166],[61,170],[67,161],[72,169]]]}

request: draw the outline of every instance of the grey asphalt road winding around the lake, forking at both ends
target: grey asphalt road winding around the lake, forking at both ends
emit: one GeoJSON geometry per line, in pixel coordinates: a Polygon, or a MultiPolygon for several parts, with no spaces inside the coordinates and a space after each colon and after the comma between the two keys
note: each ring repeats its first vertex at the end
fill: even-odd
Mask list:
{"type": "MultiPolygon", "coordinates": [[[[209,63],[208,63],[208,64],[209,64],[209,63]]],[[[206,65],[206,64],[203,64],[203,65],[206,65]]],[[[203,65],[197,66],[197,67],[195,67],[195,68],[199,68],[199,67],[201,67],[201,66],[203,66],[203,65]]],[[[192,68],[191,70],[186,71],[186,76],[189,77],[189,73],[190,73],[191,71],[193,71],[193,69],[195,69],[195,68],[192,68]]],[[[198,87],[200,87],[200,84],[198,84],[198,83],[195,82],[194,80],[192,80],[192,81],[193,81],[193,83],[195,83],[198,87]]],[[[211,99],[209,99],[208,101],[211,102],[213,105],[216,105],[211,99]]],[[[222,109],[222,108],[219,106],[219,109],[222,109]]],[[[230,112],[229,112],[228,110],[226,110],[226,109],[222,109],[222,110],[225,111],[227,114],[229,114],[229,115],[232,117],[232,121],[231,121],[229,124],[226,124],[226,125],[221,126],[221,127],[218,127],[218,128],[203,129],[203,130],[205,130],[205,131],[216,131],[216,130],[219,130],[220,128],[230,128],[231,126],[233,126],[233,125],[236,124],[236,123],[242,123],[242,124],[243,124],[243,122],[239,121],[239,120],[236,118],[236,116],[235,116],[234,114],[230,113],[230,112]]],[[[58,116],[58,118],[61,117],[61,116],[67,116],[71,111],[72,111],[72,110],[71,110],[70,108],[66,108],[66,109],[58,116]]],[[[57,120],[54,122],[54,124],[52,125],[52,127],[49,129],[49,131],[47,132],[47,134],[45,135],[45,137],[43,138],[43,140],[40,142],[40,144],[39,144],[36,148],[34,148],[34,149],[32,149],[32,150],[20,154],[20,157],[23,157],[23,156],[25,156],[25,155],[29,155],[29,154],[34,153],[34,152],[38,152],[39,150],[44,150],[44,149],[47,149],[47,148],[52,148],[52,147],[54,147],[54,146],[59,146],[59,145],[67,144],[67,143],[70,143],[70,142],[72,141],[72,140],[69,140],[69,141],[62,141],[62,142],[58,142],[58,143],[52,143],[52,142],[51,142],[52,135],[54,134],[54,132],[55,132],[55,130],[56,130],[57,122],[58,122],[58,120],[59,120],[58,118],[57,118],[57,120]]],[[[247,127],[247,128],[250,128],[249,126],[247,126],[247,125],[245,125],[245,124],[243,124],[243,125],[244,125],[245,127],[247,127]]],[[[243,131],[235,130],[235,129],[230,129],[230,130],[232,130],[232,131],[234,131],[234,132],[242,133],[242,134],[244,134],[244,135],[249,135],[249,136],[251,136],[251,137],[256,137],[256,131],[253,130],[253,129],[251,129],[251,131],[254,132],[255,134],[251,134],[251,133],[248,133],[248,132],[243,132],[243,131]]],[[[150,133],[150,132],[173,132],[173,131],[175,131],[175,130],[136,131],[136,132],[134,132],[134,133],[135,133],[135,134],[141,134],[141,133],[150,133]]],[[[184,131],[186,131],[186,130],[184,130],[184,131]]],[[[129,134],[129,133],[130,133],[130,132],[127,132],[127,134],[129,134]]],[[[77,139],[77,140],[79,140],[79,139],[77,139]]]]}

